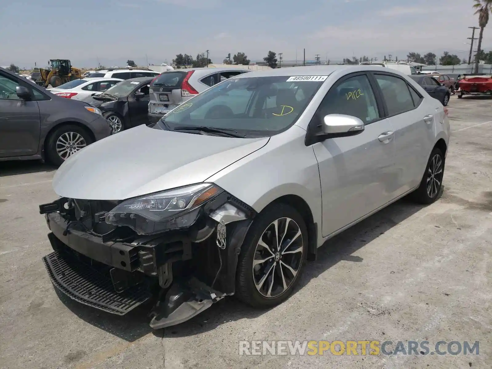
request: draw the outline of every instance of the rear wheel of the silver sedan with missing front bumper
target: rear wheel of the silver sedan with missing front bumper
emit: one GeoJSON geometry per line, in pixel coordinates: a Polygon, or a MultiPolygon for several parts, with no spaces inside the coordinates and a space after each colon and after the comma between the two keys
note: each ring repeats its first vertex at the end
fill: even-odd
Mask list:
{"type": "Polygon", "coordinates": [[[411,193],[411,199],[419,204],[432,204],[441,196],[442,179],[444,176],[445,159],[441,150],[434,148],[427,162],[426,171],[422,176],[419,188],[411,193]],[[440,163],[440,164],[439,164],[440,163]],[[439,172],[440,171],[440,172],[439,172]],[[437,173],[436,173],[437,172],[437,173]],[[433,175],[432,175],[433,173],[433,175]],[[435,179],[435,181],[434,181],[435,179]],[[428,188],[428,182],[432,181],[431,191],[428,188]]]}

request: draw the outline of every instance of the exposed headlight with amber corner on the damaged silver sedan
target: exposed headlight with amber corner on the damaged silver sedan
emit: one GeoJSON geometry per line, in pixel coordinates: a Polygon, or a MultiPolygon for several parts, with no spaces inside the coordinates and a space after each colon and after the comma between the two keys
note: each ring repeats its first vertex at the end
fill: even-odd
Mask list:
{"type": "Polygon", "coordinates": [[[200,206],[222,191],[215,184],[193,184],[125,200],[106,213],[106,223],[128,226],[141,235],[189,227],[200,206]]]}

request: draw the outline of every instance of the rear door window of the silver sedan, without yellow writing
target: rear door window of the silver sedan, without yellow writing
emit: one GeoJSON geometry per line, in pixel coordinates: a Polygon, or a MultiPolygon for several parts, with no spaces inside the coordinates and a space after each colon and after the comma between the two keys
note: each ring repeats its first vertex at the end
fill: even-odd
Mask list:
{"type": "Polygon", "coordinates": [[[388,107],[388,115],[394,116],[415,109],[408,85],[399,77],[375,74],[388,107]]]}

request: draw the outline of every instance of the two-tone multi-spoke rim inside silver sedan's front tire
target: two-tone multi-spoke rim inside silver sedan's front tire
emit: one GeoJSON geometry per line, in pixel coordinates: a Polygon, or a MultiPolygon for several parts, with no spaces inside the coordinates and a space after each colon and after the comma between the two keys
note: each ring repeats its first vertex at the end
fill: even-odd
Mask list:
{"type": "Polygon", "coordinates": [[[279,218],[263,231],[253,256],[253,280],[258,292],[274,298],[296,278],[303,260],[304,240],[299,225],[279,218]]]}

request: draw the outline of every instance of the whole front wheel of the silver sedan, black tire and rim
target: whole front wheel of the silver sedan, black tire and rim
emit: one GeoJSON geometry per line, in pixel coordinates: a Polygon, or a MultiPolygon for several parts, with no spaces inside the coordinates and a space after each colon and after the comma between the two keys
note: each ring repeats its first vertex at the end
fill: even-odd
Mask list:
{"type": "Polygon", "coordinates": [[[299,212],[285,204],[270,205],[257,215],[246,234],[238,260],[236,296],[246,304],[257,308],[272,307],[285,301],[292,294],[302,275],[307,256],[307,243],[306,223],[299,212]],[[291,239],[283,240],[280,236],[280,241],[283,240],[281,246],[286,248],[279,251],[275,249],[274,242],[275,246],[271,247],[274,249],[269,252],[271,248],[260,245],[260,239],[263,245],[268,245],[270,241],[275,240],[274,237],[270,237],[274,235],[275,221],[277,221],[278,234],[285,235],[287,219],[289,219],[287,237],[291,239]],[[294,235],[299,231],[299,236],[295,238],[294,235]],[[263,260],[263,262],[253,265],[254,260],[263,260]],[[263,282],[262,276],[266,276],[263,282]]]}

